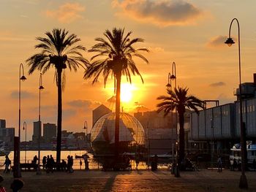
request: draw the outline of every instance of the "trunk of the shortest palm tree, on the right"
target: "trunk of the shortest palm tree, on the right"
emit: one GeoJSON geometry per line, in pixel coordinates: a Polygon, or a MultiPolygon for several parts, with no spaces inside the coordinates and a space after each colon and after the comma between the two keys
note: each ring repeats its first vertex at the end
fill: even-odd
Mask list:
{"type": "Polygon", "coordinates": [[[178,163],[185,157],[185,135],[184,135],[184,112],[178,112],[178,120],[179,120],[179,158],[178,163]]]}

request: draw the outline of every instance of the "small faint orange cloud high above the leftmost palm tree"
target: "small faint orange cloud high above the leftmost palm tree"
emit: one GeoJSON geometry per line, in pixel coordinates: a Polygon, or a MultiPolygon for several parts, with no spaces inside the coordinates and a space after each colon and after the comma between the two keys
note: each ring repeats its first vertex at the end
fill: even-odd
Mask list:
{"type": "Polygon", "coordinates": [[[58,9],[47,10],[45,15],[48,18],[56,18],[60,23],[72,23],[74,20],[83,18],[80,12],[83,12],[85,8],[78,3],[65,3],[58,9]]]}

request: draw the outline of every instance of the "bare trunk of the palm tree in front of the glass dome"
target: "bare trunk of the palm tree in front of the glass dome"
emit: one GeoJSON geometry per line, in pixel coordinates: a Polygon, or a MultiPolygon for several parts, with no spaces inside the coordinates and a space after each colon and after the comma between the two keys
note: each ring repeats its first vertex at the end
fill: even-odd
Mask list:
{"type": "Polygon", "coordinates": [[[121,72],[116,74],[116,121],[115,121],[115,157],[119,153],[119,120],[120,120],[120,92],[121,92],[121,72]]]}

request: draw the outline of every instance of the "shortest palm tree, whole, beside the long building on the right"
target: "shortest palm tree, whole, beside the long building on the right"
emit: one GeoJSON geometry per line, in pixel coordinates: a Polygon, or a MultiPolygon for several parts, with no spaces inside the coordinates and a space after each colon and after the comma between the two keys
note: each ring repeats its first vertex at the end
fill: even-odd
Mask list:
{"type": "Polygon", "coordinates": [[[157,112],[163,111],[165,116],[177,110],[179,120],[179,162],[184,159],[185,141],[184,141],[184,113],[186,108],[195,110],[198,112],[198,108],[203,108],[203,101],[197,99],[195,96],[187,95],[189,88],[174,88],[173,90],[167,89],[168,96],[159,96],[157,99],[162,100],[161,103],[157,104],[157,112]]]}

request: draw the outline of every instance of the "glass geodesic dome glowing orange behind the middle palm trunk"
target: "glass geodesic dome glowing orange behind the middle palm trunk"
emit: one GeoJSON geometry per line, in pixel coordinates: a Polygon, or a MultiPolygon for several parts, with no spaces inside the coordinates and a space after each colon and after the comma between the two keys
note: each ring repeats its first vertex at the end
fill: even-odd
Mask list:
{"type": "MultiPolygon", "coordinates": [[[[115,112],[103,115],[91,129],[91,142],[115,142],[115,112]]],[[[128,113],[120,113],[119,142],[144,145],[144,129],[140,122],[128,113]]]]}

